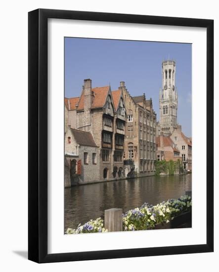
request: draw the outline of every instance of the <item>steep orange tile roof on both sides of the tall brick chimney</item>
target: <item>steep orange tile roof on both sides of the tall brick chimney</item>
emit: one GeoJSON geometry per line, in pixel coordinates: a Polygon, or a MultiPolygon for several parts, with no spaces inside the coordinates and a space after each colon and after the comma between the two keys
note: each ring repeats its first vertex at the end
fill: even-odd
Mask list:
{"type": "MultiPolygon", "coordinates": [[[[92,91],[93,91],[94,97],[91,104],[91,109],[103,107],[106,101],[106,95],[109,91],[109,86],[96,87],[96,88],[93,88],[92,91]]],[[[85,103],[85,96],[83,91],[79,100],[78,110],[84,110],[84,103],[85,103]]]]}

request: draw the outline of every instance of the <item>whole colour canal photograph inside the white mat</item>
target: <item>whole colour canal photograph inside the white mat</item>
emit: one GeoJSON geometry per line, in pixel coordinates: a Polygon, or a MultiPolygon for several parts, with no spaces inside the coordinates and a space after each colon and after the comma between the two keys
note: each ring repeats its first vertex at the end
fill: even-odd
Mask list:
{"type": "Polygon", "coordinates": [[[64,232],[192,227],[192,45],[64,38],[64,232]]]}

